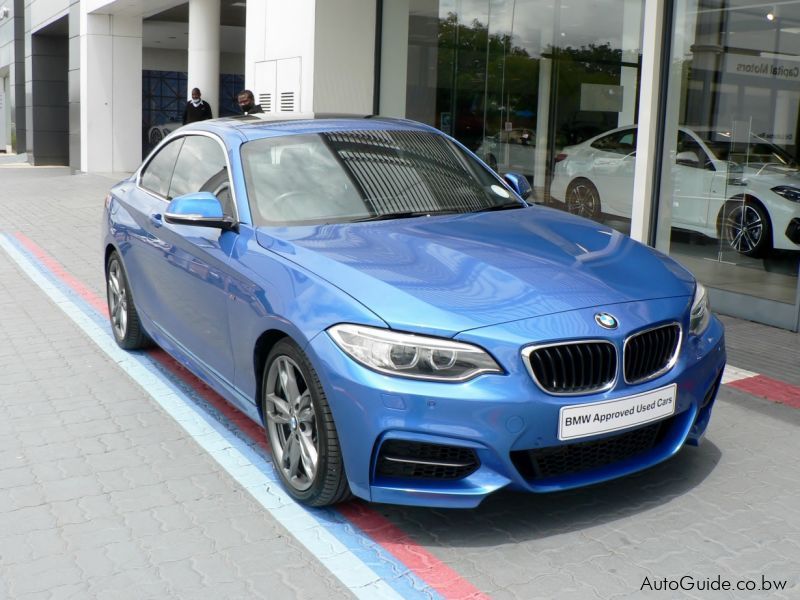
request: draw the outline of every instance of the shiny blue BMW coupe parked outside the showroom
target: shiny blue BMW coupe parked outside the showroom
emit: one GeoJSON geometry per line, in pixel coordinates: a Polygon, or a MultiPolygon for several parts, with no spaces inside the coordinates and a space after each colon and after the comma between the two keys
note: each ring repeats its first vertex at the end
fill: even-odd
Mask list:
{"type": "Polygon", "coordinates": [[[703,286],[529,192],[410,121],[183,127],[106,199],[114,336],[263,423],[312,506],[472,507],[699,443],[725,365],[703,286]]]}

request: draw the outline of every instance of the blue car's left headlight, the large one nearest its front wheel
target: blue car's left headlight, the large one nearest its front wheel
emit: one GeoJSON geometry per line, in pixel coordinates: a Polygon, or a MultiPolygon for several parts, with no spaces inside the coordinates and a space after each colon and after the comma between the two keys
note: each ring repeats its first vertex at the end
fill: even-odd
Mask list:
{"type": "Polygon", "coordinates": [[[348,356],[389,375],[465,381],[480,373],[503,372],[491,356],[471,344],[363,325],[334,325],[328,333],[348,356]]]}

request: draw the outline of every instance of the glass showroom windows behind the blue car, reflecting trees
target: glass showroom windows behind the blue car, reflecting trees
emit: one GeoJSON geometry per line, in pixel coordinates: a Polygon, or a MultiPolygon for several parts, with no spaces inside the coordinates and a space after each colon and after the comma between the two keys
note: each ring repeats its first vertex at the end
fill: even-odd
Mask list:
{"type": "Polygon", "coordinates": [[[648,73],[651,1],[384,1],[380,112],[431,124],[524,174],[536,202],[625,233],[647,160],[642,237],[717,309],[796,330],[800,0],[660,2],[648,73]],[[643,92],[657,98],[649,159],[643,92]]]}

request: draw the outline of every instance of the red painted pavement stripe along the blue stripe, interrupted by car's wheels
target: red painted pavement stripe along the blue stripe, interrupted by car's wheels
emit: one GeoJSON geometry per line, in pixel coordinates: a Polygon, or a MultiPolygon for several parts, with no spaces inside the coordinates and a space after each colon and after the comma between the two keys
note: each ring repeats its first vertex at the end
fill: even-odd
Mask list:
{"type": "MultiPolygon", "coordinates": [[[[57,278],[71,288],[90,306],[101,314],[108,316],[108,307],[92,290],[84,286],[75,277],[70,275],[55,259],[50,257],[31,239],[21,233],[15,234],[25,248],[45,265],[57,278]]],[[[149,354],[161,363],[178,379],[189,385],[204,400],[212,404],[229,421],[260,447],[269,450],[264,430],[238,408],[228,403],[202,380],[193,375],[186,367],[172,358],[169,354],[158,349],[153,349],[149,354]]],[[[372,540],[391,553],[403,563],[419,579],[432,589],[436,590],[445,600],[486,600],[488,596],[478,590],[469,581],[456,571],[448,567],[433,554],[403,532],[399,527],[374,510],[365,506],[361,501],[352,501],[334,507],[348,521],[361,529],[372,540]]]]}

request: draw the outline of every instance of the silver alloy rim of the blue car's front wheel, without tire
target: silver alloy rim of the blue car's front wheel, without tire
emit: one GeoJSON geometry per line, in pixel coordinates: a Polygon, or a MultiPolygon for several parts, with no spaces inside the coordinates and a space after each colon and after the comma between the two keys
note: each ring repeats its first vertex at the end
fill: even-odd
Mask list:
{"type": "Polygon", "coordinates": [[[319,464],[314,403],[301,369],[288,356],[269,366],[265,417],[275,465],[296,490],[309,489],[319,464]]]}

